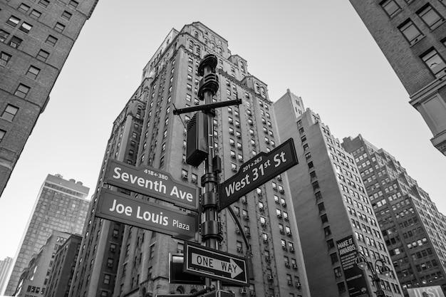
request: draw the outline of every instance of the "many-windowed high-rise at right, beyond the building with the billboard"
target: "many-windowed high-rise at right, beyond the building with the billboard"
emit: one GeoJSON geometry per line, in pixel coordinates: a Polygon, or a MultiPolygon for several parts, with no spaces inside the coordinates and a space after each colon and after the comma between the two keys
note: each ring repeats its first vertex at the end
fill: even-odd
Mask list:
{"type": "Polygon", "coordinates": [[[353,154],[401,286],[446,291],[446,221],[390,153],[361,135],[343,139],[353,154]]]}

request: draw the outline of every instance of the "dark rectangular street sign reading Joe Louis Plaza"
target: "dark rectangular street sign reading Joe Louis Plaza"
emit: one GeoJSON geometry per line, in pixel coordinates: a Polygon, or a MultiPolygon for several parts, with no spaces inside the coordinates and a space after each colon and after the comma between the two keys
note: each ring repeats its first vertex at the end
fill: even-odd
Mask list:
{"type": "Polygon", "coordinates": [[[197,214],[187,214],[109,189],[101,189],[95,216],[171,235],[177,239],[197,240],[197,214]]]}

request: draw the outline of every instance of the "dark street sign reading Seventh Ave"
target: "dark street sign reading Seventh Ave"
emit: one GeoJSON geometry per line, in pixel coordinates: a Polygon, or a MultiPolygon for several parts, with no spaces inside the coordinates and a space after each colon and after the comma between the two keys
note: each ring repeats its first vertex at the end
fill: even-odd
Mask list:
{"type": "Polygon", "coordinates": [[[178,207],[197,211],[197,187],[175,181],[169,172],[149,166],[135,167],[113,159],[108,160],[104,182],[145,196],[170,202],[178,207]]]}

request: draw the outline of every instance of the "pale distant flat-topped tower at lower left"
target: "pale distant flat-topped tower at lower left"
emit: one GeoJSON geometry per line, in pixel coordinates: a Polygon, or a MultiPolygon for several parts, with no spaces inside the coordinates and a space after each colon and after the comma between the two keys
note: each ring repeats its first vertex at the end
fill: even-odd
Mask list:
{"type": "Polygon", "coordinates": [[[38,254],[46,244],[53,231],[82,233],[89,204],[86,199],[88,191],[82,182],[63,179],[60,174],[48,174],[19,244],[6,295],[12,296],[16,291],[22,271],[28,267],[33,254],[38,254]]]}

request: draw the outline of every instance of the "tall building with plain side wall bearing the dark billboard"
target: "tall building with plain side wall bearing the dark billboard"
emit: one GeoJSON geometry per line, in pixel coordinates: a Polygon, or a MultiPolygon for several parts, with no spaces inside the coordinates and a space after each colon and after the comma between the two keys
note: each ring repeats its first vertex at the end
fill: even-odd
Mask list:
{"type": "Polygon", "coordinates": [[[287,175],[311,296],[373,296],[378,288],[371,271],[356,266],[358,253],[390,269],[380,276],[385,296],[403,296],[353,156],[290,90],[274,113],[279,136],[294,138],[300,160],[287,175]]]}

